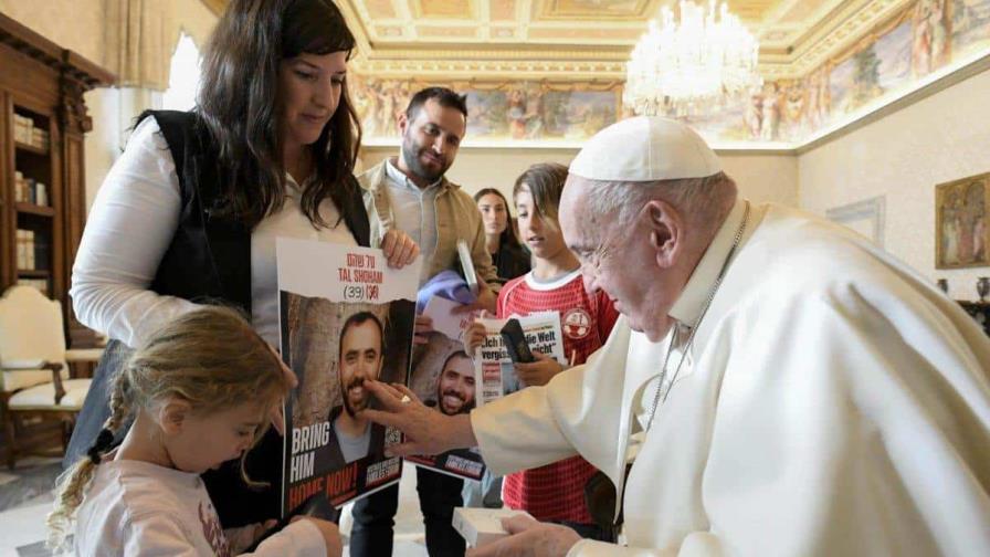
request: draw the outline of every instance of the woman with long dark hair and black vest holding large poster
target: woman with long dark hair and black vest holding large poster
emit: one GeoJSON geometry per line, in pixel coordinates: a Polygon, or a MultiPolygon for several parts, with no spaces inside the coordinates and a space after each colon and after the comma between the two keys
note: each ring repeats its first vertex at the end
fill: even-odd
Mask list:
{"type": "MultiPolygon", "coordinates": [[[[112,339],[66,462],[106,419],[106,385],[129,347],[204,301],[242,308],[278,345],[275,239],[378,246],[392,265],[419,249],[369,238],[351,175],[360,129],[347,95],[355,39],[331,0],[232,0],[203,57],[198,106],[141,115],[89,213],[72,276],[75,313],[112,339]]],[[[326,281],[335,281],[327,276],[326,281]]],[[[273,417],[276,428],[281,417],[273,417]]],[[[203,475],[224,527],[278,513],[282,438],[203,475]]]]}

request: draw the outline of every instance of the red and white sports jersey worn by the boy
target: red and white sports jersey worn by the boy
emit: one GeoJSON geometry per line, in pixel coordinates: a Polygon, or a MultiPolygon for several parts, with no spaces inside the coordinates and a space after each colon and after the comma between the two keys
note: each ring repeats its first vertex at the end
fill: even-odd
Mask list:
{"type": "MultiPolygon", "coordinates": [[[[498,317],[526,316],[557,311],[564,333],[564,354],[583,364],[608,339],[619,313],[603,292],[588,294],[580,270],[551,283],[540,283],[527,273],[509,281],[498,293],[498,317]]],[[[594,466],[573,456],[505,477],[502,498],[510,508],[524,509],[538,521],[570,521],[592,524],[584,504],[584,484],[594,466]]]]}

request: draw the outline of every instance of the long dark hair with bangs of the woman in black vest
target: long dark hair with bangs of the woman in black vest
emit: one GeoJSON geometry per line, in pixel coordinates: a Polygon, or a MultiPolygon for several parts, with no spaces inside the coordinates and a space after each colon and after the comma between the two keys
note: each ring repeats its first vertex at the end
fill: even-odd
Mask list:
{"type": "MultiPolygon", "coordinates": [[[[355,39],[331,0],[232,0],[203,57],[198,111],[219,147],[225,174],[222,213],[254,228],[285,201],[285,165],[278,140],[278,67],[299,54],[346,52],[355,39]]],[[[314,176],[302,183],[301,208],[314,225],[330,198],[341,216],[359,195],[352,179],[360,124],[345,82],[340,102],[310,146],[314,176]]],[[[339,222],[339,221],[338,221],[339,222]]]]}

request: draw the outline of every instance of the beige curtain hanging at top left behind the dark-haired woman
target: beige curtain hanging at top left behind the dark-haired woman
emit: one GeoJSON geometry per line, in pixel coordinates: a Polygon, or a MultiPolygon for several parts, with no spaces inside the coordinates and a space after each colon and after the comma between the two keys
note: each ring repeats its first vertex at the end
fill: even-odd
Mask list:
{"type": "Polygon", "coordinates": [[[168,88],[178,32],[171,0],[104,0],[106,61],[117,86],[168,88]]]}

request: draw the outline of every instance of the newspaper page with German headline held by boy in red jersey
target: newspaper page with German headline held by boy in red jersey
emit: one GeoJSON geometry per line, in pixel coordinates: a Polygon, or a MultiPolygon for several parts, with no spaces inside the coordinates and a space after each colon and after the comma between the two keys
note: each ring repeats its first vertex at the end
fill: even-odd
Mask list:
{"type": "MultiPolygon", "coordinates": [[[[539,312],[526,317],[514,316],[523,326],[526,343],[533,351],[539,351],[567,366],[564,355],[564,337],[560,334],[560,314],[539,312]]],[[[477,319],[485,326],[485,340],[474,354],[477,404],[510,395],[523,388],[516,376],[516,368],[502,341],[499,332],[508,319],[477,319]]]]}

